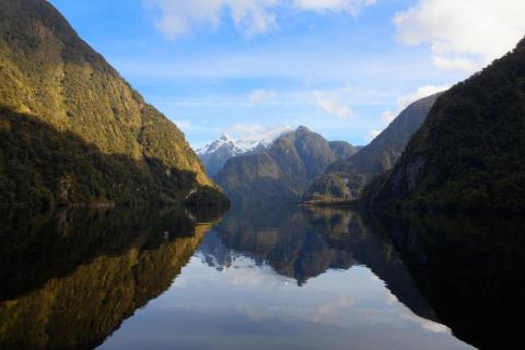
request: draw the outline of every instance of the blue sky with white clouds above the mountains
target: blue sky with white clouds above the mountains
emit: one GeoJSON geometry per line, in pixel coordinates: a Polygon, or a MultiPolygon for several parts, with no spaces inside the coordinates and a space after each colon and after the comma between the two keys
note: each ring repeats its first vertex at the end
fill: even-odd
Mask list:
{"type": "Polygon", "coordinates": [[[525,36],[524,0],[49,0],[194,148],[306,126],[366,144],[525,36]]]}

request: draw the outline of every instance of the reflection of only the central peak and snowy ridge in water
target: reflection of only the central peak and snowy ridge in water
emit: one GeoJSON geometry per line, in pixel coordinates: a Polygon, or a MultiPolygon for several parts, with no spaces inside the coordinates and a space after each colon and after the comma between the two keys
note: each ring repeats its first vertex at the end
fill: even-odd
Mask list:
{"type": "Polygon", "coordinates": [[[215,261],[226,265],[242,254],[259,265],[269,264],[299,284],[329,268],[349,268],[353,262],[347,252],[331,248],[294,207],[233,211],[213,231],[201,246],[208,262],[217,252],[222,256],[215,256],[215,261]]]}

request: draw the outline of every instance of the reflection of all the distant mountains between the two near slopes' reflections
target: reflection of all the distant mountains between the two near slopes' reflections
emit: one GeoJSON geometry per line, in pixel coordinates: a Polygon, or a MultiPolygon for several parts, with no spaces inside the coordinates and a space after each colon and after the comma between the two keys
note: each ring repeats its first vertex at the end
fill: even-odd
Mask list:
{"type": "Polygon", "coordinates": [[[435,319],[386,235],[346,210],[294,207],[257,208],[228,214],[200,249],[208,264],[224,268],[238,255],[268,264],[278,273],[306,282],[327,269],[369,267],[421,317],[435,319]]]}

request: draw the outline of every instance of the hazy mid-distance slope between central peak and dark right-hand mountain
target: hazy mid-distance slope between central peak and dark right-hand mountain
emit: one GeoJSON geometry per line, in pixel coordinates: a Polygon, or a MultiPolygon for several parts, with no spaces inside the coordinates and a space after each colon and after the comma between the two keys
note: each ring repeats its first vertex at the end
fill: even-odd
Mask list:
{"type": "Polygon", "coordinates": [[[375,176],[394,166],[439,95],[412,103],[369,145],[350,159],[328,166],[327,171],[310,186],[303,200],[330,202],[359,198],[364,187],[375,176]]]}

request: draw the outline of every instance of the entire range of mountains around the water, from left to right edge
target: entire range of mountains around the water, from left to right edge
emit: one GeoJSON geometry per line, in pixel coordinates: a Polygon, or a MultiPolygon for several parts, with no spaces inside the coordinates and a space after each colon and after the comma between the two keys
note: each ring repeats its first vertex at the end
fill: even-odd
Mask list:
{"type": "Polygon", "coordinates": [[[525,208],[525,40],[366,145],[299,127],[196,153],[49,2],[0,4],[4,206],[525,208]]]}

